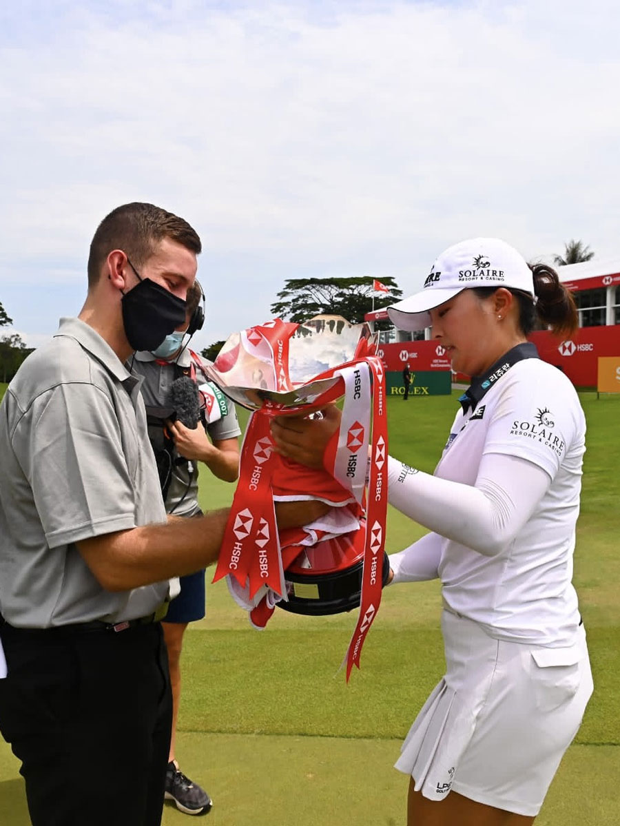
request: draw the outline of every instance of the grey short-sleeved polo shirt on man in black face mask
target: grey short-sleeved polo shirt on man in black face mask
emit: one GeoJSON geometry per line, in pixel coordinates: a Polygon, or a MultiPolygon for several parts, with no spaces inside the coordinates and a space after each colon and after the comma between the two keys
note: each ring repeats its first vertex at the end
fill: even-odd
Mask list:
{"type": "Polygon", "coordinates": [[[140,380],[83,321],[61,319],[54,339],[26,358],[9,385],[0,457],[0,613],[7,622],[117,622],[163,602],[168,581],[104,591],[75,546],[166,521],[140,380]]]}

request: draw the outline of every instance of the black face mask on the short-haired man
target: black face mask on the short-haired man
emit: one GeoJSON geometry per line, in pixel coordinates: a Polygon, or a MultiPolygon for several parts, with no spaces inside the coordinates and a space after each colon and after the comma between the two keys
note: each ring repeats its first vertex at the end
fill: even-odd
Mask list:
{"type": "MultiPolygon", "coordinates": [[[[130,267],[140,278],[134,265],[130,267]]],[[[168,333],[172,333],[185,321],[187,303],[182,298],[151,281],[140,278],[140,283],[123,292],[121,310],[127,341],[135,350],[154,350],[168,333]]]]}

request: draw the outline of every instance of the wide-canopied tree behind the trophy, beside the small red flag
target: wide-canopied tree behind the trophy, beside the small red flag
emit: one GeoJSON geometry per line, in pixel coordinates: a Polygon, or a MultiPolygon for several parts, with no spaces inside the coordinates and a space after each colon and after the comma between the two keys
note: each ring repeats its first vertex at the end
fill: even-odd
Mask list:
{"type": "Polygon", "coordinates": [[[375,292],[372,276],[357,278],[289,278],[271,306],[274,316],[287,321],[307,321],[322,314],[343,316],[353,324],[364,320],[367,312],[394,303],[402,296],[394,278],[381,276],[389,293],[375,292]]]}

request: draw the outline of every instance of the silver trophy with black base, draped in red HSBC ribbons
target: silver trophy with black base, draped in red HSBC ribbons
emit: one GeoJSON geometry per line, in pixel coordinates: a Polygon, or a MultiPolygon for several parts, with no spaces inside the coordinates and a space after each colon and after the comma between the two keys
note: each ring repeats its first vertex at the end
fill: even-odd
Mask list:
{"type": "Polygon", "coordinates": [[[253,411],[214,582],[226,577],[257,628],[264,628],[276,605],[306,615],[359,605],[347,680],[353,665],[359,667],[389,573],[385,378],[375,353],[366,324],[340,316],[301,325],[274,319],[231,335],[215,363],[206,365],[227,396],[253,411]],[[272,450],[272,416],[320,416],[334,401],[342,406],[342,420],[324,469],[305,468],[272,450]],[[329,511],[278,532],[274,502],[310,499],[328,503],[329,511]]]}

